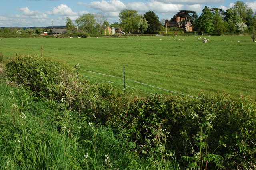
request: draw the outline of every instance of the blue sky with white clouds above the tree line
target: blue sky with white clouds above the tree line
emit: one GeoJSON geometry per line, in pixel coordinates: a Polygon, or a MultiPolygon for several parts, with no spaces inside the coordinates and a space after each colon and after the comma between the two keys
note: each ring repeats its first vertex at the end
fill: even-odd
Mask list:
{"type": "MultiPolygon", "coordinates": [[[[139,14],[154,11],[159,20],[170,19],[179,10],[194,10],[198,16],[204,6],[231,8],[234,0],[0,0],[0,27],[66,26],[80,15],[103,14],[110,24],[120,22],[118,14],[127,8],[139,14]]],[[[243,0],[256,11],[256,0],[243,0]]]]}

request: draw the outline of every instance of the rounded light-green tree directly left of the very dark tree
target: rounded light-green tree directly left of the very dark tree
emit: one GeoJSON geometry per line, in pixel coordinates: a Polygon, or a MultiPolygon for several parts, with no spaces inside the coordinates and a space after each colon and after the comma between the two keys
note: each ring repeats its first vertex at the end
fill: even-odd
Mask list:
{"type": "Polygon", "coordinates": [[[138,22],[141,16],[136,10],[124,9],[119,13],[119,20],[121,27],[127,32],[134,32],[138,30],[138,22]]]}

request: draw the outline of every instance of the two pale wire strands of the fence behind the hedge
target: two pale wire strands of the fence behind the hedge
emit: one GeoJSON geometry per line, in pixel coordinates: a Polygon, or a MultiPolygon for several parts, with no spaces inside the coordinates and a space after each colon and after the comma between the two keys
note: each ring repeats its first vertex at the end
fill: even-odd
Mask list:
{"type": "MultiPolygon", "coordinates": [[[[124,77],[116,77],[116,76],[113,76],[113,75],[107,75],[107,74],[102,74],[102,73],[97,73],[97,72],[94,72],[94,71],[88,71],[88,70],[82,70],[82,71],[86,71],[86,72],[90,72],[90,73],[94,73],[94,74],[99,74],[99,75],[104,75],[104,76],[108,76],[108,77],[114,77],[114,78],[118,78],[118,79],[124,79],[124,77]]],[[[98,79],[98,78],[95,78],[95,77],[89,77],[89,76],[86,76],[86,75],[82,75],[83,77],[88,77],[88,78],[91,78],[91,79],[98,79]]],[[[107,83],[113,83],[113,84],[116,84],[116,85],[123,85],[121,83],[114,83],[112,81],[106,81],[106,80],[102,80],[102,79],[98,79],[100,81],[104,81],[104,82],[107,82],[107,83]]],[[[142,85],[146,85],[146,86],[149,86],[149,87],[153,87],[153,88],[156,88],[156,89],[160,89],[160,90],[163,90],[163,91],[168,91],[168,92],[171,92],[171,93],[176,93],[176,94],[180,94],[180,95],[184,95],[184,96],[188,96],[188,97],[195,97],[195,96],[191,96],[191,95],[186,95],[186,94],[182,94],[182,93],[178,93],[176,91],[170,91],[170,90],[167,90],[167,89],[163,89],[163,88],[160,88],[160,87],[156,87],[156,86],[153,86],[153,85],[148,85],[148,84],[145,84],[145,83],[141,83],[141,82],[138,82],[138,81],[134,81],[134,80],[130,80],[130,79],[124,79],[124,80],[127,80],[127,81],[131,81],[131,82],[134,82],[134,83],[138,83],[138,84],[142,84],[142,85]]],[[[136,90],[139,90],[139,91],[143,91],[145,93],[149,93],[149,94],[152,94],[154,95],[154,93],[150,93],[148,91],[144,91],[142,89],[137,89],[135,87],[131,87],[131,86],[128,86],[128,85],[125,85],[125,87],[130,87],[132,89],[136,89],[136,90]]],[[[195,97],[196,99],[201,99],[199,97],[195,97]]]]}

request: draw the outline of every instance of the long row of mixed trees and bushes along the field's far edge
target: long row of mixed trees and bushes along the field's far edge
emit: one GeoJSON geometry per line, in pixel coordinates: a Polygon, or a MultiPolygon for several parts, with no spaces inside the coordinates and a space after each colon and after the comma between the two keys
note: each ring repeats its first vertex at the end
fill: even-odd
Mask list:
{"type": "MultiPolygon", "coordinates": [[[[169,21],[175,21],[176,17],[185,18],[181,28],[164,27],[165,20],[159,20],[154,11],[139,14],[136,10],[124,9],[119,13],[119,21],[109,24],[107,18],[102,14],[84,14],[79,16],[74,23],[66,17],[66,29],[68,34],[80,32],[82,34],[105,34],[105,28],[115,27],[130,34],[154,34],[160,31],[186,31],[184,22],[190,21],[193,31],[200,34],[241,34],[255,33],[256,12],[242,1],[236,1],[232,8],[224,11],[221,8],[209,8],[202,10],[198,17],[195,11],[180,10],[169,21]]],[[[21,33],[40,34],[49,32],[44,28],[19,29],[21,33]]],[[[0,28],[0,33],[17,33],[18,28],[0,28]]]]}

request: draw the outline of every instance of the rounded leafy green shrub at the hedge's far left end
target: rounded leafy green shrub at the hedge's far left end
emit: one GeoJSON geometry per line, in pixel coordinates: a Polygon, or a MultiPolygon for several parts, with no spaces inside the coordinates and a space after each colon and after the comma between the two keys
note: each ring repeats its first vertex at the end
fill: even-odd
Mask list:
{"type": "Polygon", "coordinates": [[[11,80],[56,99],[62,98],[62,80],[70,73],[72,69],[66,63],[39,56],[18,55],[6,63],[6,74],[11,80]]]}

